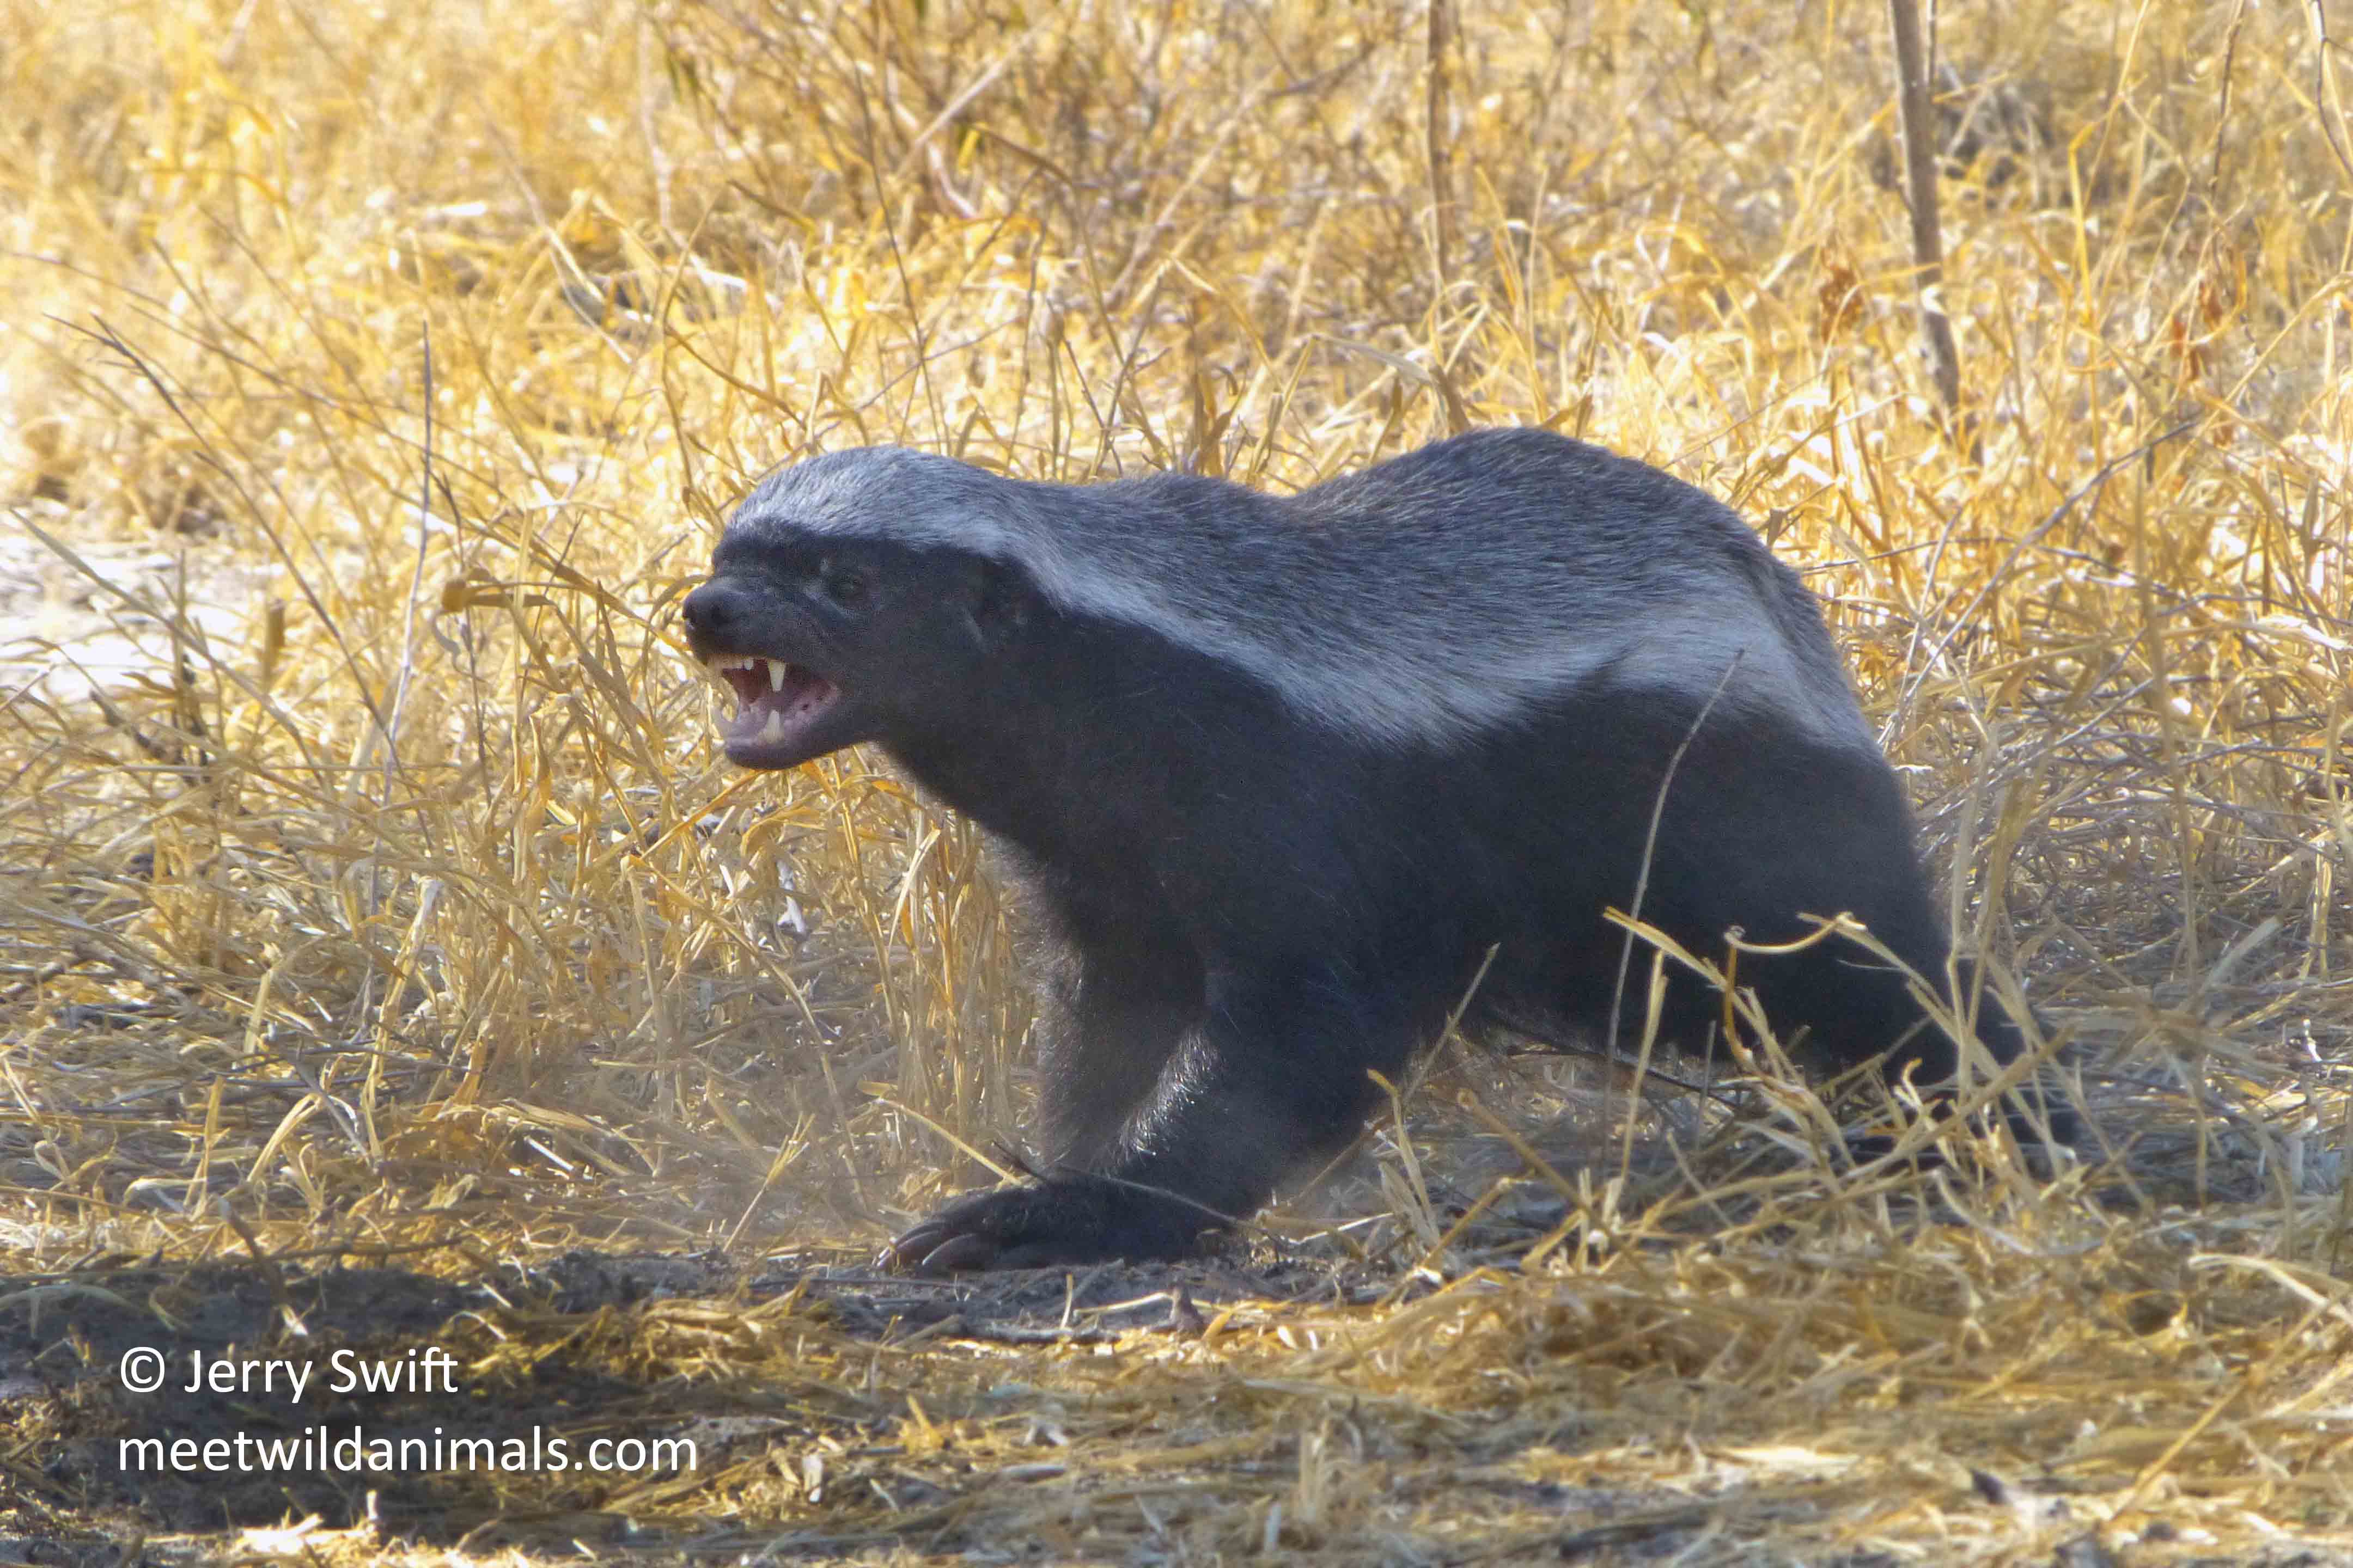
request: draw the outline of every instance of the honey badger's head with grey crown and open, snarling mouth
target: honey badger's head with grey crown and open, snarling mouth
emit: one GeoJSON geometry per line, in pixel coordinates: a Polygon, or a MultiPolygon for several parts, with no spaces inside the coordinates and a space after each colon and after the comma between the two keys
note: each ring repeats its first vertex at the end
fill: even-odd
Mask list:
{"type": "Polygon", "coordinates": [[[1009,569],[922,531],[889,536],[889,510],[911,501],[984,501],[953,494],[969,470],[920,454],[849,456],[859,461],[816,458],[755,489],[711,557],[711,581],[685,599],[687,644],[734,691],[720,738],[741,766],[791,769],[936,731],[986,684],[991,654],[1019,621],[1009,569]]]}

